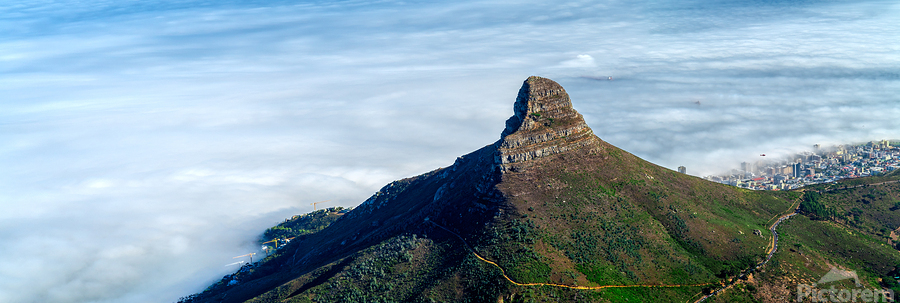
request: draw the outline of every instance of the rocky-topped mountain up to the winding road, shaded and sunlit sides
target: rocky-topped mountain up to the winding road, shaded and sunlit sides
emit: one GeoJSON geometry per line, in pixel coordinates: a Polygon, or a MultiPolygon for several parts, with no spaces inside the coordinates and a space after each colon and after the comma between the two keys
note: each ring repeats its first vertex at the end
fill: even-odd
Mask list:
{"type": "Polygon", "coordinates": [[[190,302],[683,300],[763,260],[769,240],[753,231],[802,198],[646,162],[596,137],[558,83],[529,77],[498,141],[385,185],[281,249],[271,273],[190,302]],[[536,286],[551,284],[573,287],[536,286]],[[651,284],[681,286],[628,289],[651,284]],[[579,289],[604,285],[625,287],[579,289]]]}

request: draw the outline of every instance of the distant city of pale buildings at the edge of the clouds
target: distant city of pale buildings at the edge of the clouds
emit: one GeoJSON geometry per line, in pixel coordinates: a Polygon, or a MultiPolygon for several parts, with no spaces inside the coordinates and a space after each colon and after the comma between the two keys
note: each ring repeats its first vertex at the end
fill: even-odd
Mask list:
{"type": "MultiPolygon", "coordinates": [[[[761,155],[764,156],[764,155],[761,155]]],[[[871,141],[865,144],[822,148],[818,144],[783,160],[742,162],[727,175],[704,179],[754,190],[789,190],[809,184],[846,178],[875,176],[900,169],[900,142],[871,141]]],[[[686,173],[684,166],[678,171],[686,173]]]]}

